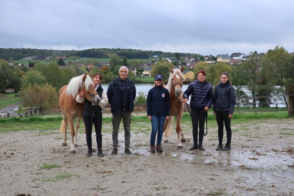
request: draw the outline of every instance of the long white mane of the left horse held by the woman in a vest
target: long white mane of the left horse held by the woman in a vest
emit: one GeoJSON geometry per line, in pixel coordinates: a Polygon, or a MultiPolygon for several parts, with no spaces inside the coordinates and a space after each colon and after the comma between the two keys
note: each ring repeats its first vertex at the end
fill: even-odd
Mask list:
{"type": "MultiPolygon", "coordinates": [[[[76,96],[77,96],[77,94],[79,92],[79,89],[83,85],[83,76],[84,75],[73,77],[70,80],[70,83],[68,83],[68,86],[66,88],[66,95],[69,95],[69,96],[71,96],[74,99],[76,98],[76,96]]],[[[85,88],[86,88],[87,91],[88,91],[89,86],[91,84],[92,84],[92,79],[91,79],[91,77],[89,77],[87,75],[87,77],[85,79],[85,88]]]]}

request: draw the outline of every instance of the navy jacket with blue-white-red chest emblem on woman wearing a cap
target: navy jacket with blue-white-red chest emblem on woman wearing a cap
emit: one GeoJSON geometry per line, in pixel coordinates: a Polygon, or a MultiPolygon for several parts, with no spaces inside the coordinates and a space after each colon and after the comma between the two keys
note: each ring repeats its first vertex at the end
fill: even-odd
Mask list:
{"type": "Polygon", "coordinates": [[[155,86],[147,95],[147,116],[165,115],[169,116],[171,99],[168,89],[163,86],[155,86]]]}

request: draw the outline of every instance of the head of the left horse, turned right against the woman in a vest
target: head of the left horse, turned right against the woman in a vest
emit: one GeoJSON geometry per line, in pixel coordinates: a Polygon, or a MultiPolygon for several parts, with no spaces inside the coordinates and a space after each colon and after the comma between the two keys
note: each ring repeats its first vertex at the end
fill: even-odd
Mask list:
{"type": "MultiPolygon", "coordinates": [[[[91,73],[92,74],[92,73],[91,73]]],[[[100,102],[100,97],[97,94],[95,87],[93,85],[91,74],[88,76],[87,73],[82,77],[83,85],[81,85],[80,91],[84,92],[84,96],[87,100],[91,101],[93,105],[98,105],[100,102]]]]}

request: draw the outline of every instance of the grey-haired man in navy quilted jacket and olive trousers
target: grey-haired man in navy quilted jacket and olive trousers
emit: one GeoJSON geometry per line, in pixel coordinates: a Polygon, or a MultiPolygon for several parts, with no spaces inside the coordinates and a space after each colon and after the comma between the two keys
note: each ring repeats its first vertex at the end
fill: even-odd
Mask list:
{"type": "Polygon", "coordinates": [[[111,105],[112,113],[112,143],[113,150],[111,154],[117,154],[119,145],[118,132],[121,119],[123,119],[123,128],[125,130],[125,153],[131,154],[131,113],[134,111],[134,99],[136,98],[135,83],[128,78],[129,70],[126,66],[119,68],[119,77],[111,81],[107,89],[108,102],[111,105]]]}

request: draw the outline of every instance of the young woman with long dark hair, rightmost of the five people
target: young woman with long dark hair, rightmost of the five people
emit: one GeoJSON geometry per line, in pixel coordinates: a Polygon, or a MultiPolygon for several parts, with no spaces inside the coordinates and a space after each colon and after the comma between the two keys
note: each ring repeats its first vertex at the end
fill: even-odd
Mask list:
{"type": "Polygon", "coordinates": [[[217,118],[218,125],[218,146],[216,150],[231,149],[231,118],[233,116],[234,107],[236,105],[236,93],[232,86],[227,72],[221,73],[220,84],[215,87],[213,114],[217,118]],[[223,147],[224,126],[227,132],[227,143],[223,147]]]}

